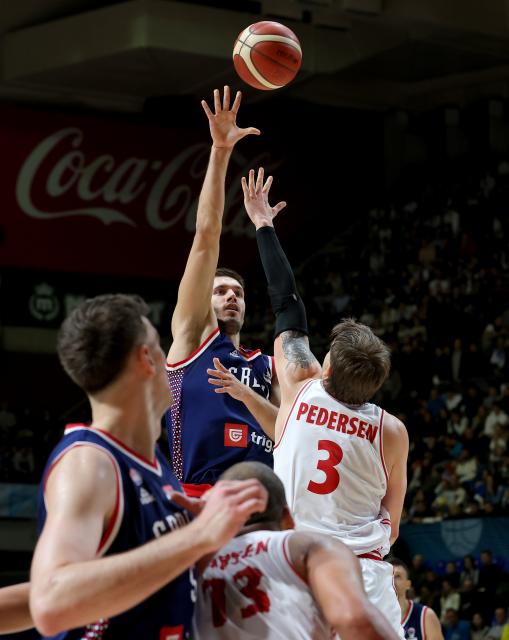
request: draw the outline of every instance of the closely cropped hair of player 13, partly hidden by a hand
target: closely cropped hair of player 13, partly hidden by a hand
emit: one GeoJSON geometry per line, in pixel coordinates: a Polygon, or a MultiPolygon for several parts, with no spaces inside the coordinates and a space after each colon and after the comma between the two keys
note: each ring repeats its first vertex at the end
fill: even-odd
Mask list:
{"type": "Polygon", "coordinates": [[[286,505],[283,483],[270,467],[261,462],[238,462],[221,474],[220,480],[250,480],[256,478],[267,489],[269,501],[263,513],[254,513],[246,525],[257,522],[279,524],[286,505]]]}

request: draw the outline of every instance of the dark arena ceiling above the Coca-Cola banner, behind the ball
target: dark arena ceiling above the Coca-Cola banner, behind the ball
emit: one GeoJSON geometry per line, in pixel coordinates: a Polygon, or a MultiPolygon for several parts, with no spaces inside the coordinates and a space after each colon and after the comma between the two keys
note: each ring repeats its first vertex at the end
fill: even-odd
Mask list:
{"type": "MultiPolygon", "coordinates": [[[[139,111],[239,86],[235,36],[273,19],[301,40],[283,92],[374,109],[509,94],[508,0],[21,0],[1,3],[0,97],[139,111]]],[[[251,101],[267,92],[243,87],[251,101]]]]}

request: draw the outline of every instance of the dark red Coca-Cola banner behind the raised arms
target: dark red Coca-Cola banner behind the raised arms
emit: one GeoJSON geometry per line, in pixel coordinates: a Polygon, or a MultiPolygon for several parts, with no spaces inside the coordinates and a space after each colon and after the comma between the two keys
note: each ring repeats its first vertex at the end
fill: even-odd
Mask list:
{"type": "MultiPolygon", "coordinates": [[[[205,117],[196,129],[170,129],[1,106],[0,266],[178,277],[207,135],[205,117]]],[[[231,161],[222,241],[222,262],[234,268],[256,253],[240,177],[249,167],[276,166],[265,153],[242,155],[242,144],[252,148],[242,141],[231,161]]]]}

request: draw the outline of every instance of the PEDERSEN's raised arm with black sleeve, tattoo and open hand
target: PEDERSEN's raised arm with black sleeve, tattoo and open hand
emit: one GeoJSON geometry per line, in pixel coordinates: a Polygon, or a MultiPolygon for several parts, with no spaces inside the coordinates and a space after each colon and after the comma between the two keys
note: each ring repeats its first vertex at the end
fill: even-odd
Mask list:
{"type": "Polygon", "coordinates": [[[264,182],[263,169],[249,172],[249,182],[242,178],[244,205],[256,227],[258,250],[267,277],[272,309],[276,314],[274,355],[281,387],[281,403],[293,399],[302,383],[321,374],[321,367],[309,348],[304,304],[288,259],[281,248],[273,220],[286,206],[269,204],[272,176],[264,182]]]}

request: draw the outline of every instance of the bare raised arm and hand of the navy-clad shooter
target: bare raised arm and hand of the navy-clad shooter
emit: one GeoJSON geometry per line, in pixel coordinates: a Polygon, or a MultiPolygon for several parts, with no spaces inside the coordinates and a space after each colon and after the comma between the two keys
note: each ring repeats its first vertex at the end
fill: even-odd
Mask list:
{"type": "Polygon", "coordinates": [[[202,101],[209,121],[212,149],[198,200],[196,232],[171,322],[173,343],[168,354],[169,363],[187,358],[217,327],[210,299],[219,257],[226,171],[235,144],[247,135],[260,133],[253,127],[239,129],[237,126],[240,101],[239,91],[230,108],[228,86],[224,88],[222,103],[219,90],[214,90],[214,112],[205,100],[202,101]]]}

